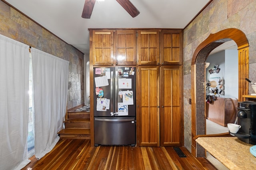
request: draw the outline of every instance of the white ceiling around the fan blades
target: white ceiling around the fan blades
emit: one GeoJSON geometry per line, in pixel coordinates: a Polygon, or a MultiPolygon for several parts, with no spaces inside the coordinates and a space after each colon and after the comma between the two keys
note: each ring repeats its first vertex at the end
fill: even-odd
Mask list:
{"type": "Polygon", "coordinates": [[[81,17],[85,0],[5,0],[44,28],[89,53],[88,28],[185,28],[210,0],[130,0],[140,11],[132,18],[116,2],[94,5],[90,19],[81,17]]]}

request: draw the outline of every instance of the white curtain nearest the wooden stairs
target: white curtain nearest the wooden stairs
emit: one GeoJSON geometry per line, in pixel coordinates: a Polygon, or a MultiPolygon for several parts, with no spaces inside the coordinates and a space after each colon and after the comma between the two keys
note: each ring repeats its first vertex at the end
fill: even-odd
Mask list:
{"type": "Polygon", "coordinates": [[[68,64],[38,49],[31,49],[34,79],[35,156],[39,160],[59,140],[68,94],[68,64]]]}

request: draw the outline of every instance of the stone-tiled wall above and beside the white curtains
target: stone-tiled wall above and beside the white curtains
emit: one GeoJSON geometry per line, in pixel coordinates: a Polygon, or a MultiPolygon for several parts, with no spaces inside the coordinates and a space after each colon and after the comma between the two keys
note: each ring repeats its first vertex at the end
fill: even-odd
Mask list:
{"type": "Polygon", "coordinates": [[[0,34],[69,63],[68,109],[84,103],[84,54],[0,1],[0,34]]]}

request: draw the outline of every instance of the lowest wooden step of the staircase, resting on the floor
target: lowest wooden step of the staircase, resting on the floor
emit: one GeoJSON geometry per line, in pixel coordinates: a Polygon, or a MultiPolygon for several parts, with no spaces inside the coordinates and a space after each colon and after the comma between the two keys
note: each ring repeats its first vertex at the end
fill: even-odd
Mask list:
{"type": "Polygon", "coordinates": [[[66,139],[90,139],[90,129],[87,128],[65,128],[58,134],[60,134],[60,138],[66,139]]]}

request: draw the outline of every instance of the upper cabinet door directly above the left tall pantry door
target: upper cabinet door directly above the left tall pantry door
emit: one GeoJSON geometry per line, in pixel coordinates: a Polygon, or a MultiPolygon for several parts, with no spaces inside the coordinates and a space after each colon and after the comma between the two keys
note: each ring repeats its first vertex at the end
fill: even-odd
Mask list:
{"type": "Polygon", "coordinates": [[[159,31],[138,30],[138,65],[159,65],[159,31]]]}

